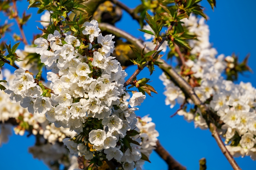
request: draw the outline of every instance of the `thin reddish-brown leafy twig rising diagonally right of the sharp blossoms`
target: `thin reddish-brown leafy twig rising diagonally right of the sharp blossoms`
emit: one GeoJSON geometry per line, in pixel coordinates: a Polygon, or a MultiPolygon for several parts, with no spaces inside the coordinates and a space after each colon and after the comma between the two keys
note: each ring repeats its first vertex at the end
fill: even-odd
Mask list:
{"type": "MultiPolygon", "coordinates": [[[[174,25],[175,22],[173,22],[167,29],[166,33],[168,34],[168,32],[173,28],[173,25],[174,25]]],[[[166,37],[163,37],[162,38],[162,41],[161,42],[157,42],[157,45],[155,46],[155,49],[154,50],[158,50],[159,47],[161,47],[161,45],[163,44],[163,42],[166,40],[167,38],[166,37]]],[[[155,52],[156,53],[156,52],[155,52]]],[[[151,55],[151,57],[153,57],[155,55],[155,53],[153,53],[151,55]]],[[[150,61],[148,61],[144,66],[143,68],[145,68],[146,66],[148,66],[150,63],[150,61]]],[[[138,68],[135,70],[135,72],[131,75],[131,77],[125,82],[125,84],[123,85],[124,87],[128,86],[129,84],[132,83],[133,79],[143,70],[143,68],[140,68],[138,66],[138,68]]]]}

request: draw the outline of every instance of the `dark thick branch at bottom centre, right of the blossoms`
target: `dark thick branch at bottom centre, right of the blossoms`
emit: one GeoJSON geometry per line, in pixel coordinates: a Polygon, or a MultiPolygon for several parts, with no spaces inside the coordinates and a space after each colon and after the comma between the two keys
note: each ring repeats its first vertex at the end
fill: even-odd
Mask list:
{"type": "Polygon", "coordinates": [[[157,145],[155,148],[155,152],[168,164],[168,170],[186,170],[180,163],[178,163],[168,151],[166,151],[159,141],[157,141],[157,145]]]}

